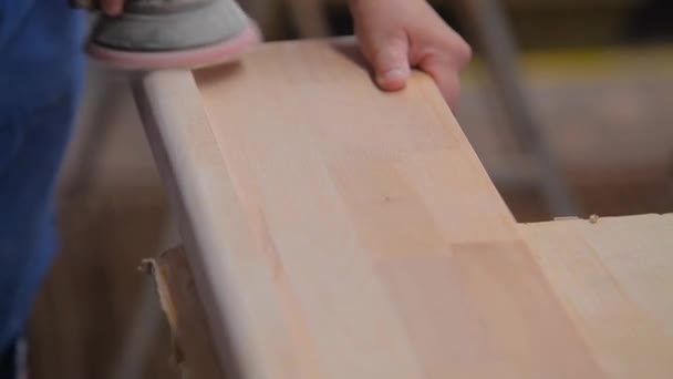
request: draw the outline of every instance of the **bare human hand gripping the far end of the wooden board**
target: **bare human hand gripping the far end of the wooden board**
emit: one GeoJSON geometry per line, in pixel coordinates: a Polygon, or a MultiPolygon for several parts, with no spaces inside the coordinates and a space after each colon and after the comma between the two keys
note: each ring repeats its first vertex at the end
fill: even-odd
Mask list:
{"type": "Polygon", "coordinates": [[[458,98],[458,73],[469,45],[425,0],[349,0],[355,34],[375,81],[386,91],[405,86],[411,68],[428,73],[449,105],[458,98]]]}

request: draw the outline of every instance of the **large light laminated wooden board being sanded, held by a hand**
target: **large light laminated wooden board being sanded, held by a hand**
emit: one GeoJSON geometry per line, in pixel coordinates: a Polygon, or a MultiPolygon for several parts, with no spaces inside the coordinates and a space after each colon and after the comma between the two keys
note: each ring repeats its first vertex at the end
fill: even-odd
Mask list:
{"type": "Polygon", "coordinates": [[[354,51],[139,82],[228,375],[601,378],[433,82],[382,93],[354,51]]]}

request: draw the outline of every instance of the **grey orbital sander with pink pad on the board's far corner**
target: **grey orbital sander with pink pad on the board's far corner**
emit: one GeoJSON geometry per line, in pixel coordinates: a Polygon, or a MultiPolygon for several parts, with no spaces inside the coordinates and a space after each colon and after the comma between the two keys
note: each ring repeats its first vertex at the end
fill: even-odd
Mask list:
{"type": "MultiPolygon", "coordinates": [[[[96,0],[71,6],[100,8],[96,0]]],[[[195,69],[235,60],[260,40],[234,0],[126,0],[120,16],[100,16],[85,49],[122,69],[195,69]]]]}

